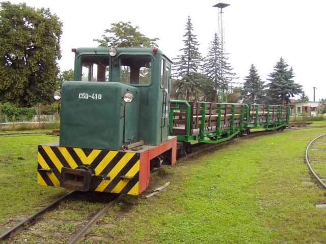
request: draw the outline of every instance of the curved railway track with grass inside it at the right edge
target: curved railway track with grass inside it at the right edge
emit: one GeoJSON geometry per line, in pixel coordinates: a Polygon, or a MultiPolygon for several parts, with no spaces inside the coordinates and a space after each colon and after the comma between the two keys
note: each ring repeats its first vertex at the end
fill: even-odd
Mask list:
{"type": "Polygon", "coordinates": [[[326,133],[309,142],[305,159],[313,176],[326,189],[326,133]]]}

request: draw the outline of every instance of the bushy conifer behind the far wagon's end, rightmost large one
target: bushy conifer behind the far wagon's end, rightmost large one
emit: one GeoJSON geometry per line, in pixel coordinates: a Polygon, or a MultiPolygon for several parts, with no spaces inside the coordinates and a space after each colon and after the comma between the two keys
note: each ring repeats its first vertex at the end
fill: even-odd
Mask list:
{"type": "Polygon", "coordinates": [[[279,62],[274,66],[274,72],[268,75],[270,81],[266,86],[267,96],[270,103],[287,105],[290,98],[302,93],[302,86],[294,83],[294,73],[292,67],[288,69],[288,64],[281,57],[279,62]]]}

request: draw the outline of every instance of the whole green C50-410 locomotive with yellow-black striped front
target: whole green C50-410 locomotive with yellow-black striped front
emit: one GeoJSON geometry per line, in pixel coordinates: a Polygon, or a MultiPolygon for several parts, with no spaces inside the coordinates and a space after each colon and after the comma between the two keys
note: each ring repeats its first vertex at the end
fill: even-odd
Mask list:
{"type": "Polygon", "coordinates": [[[171,60],[154,48],[78,48],[62,85],[60,142],[39,146],[38,182],[138,195],[176,161],[168,136],[171,60]]]}

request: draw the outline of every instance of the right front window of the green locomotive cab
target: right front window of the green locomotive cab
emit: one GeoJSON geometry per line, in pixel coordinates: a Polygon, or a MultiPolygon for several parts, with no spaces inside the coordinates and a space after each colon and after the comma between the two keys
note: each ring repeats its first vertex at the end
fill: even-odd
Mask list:
{"type": "Polygon", "coordinates": [[[124,84],[150,84],[151,63],[148,56],[121,56],[120,81],[124,84]]]}

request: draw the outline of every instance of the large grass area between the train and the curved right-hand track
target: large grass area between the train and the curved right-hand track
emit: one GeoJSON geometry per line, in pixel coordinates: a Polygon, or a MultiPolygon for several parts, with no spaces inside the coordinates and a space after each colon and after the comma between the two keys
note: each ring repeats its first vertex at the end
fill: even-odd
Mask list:
{"type": "Polygon", "coordinates": [[[125,198],[90,236],[114,237],[101,243],[324,243],[326,210],[314,204],[325,201],[325,190],[303,160],[322,132],[247,138],[179,162],[152,180],[153,188],[170,181],[166,191],[125,198]]]}

